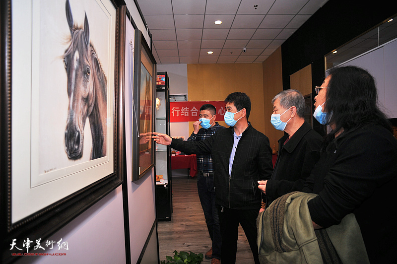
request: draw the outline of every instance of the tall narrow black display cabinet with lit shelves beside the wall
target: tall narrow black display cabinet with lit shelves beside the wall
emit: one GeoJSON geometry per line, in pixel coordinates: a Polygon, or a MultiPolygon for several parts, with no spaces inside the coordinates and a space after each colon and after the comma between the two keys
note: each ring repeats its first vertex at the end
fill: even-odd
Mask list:
{"type": "MultiPolygon", "coordinates": [[[[170,134],[170,87],[167,72],[157,72],[156,81],[156,132],[170,134]]],[[[156,147],[156,214],[158,221],[171,221],[172,180],[171,149],[155,144],[156,147]]]]}

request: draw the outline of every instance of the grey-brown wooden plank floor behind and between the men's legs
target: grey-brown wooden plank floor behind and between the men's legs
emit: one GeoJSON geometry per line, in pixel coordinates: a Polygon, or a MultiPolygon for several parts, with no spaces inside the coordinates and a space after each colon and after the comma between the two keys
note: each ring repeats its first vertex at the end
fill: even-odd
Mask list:
{"type": "MultiPolygon", "coordinates": [[[[173,256],[174,250],[204,255],[211,247],[211,238],[197,192],[197,177],[173,177],[172,193],[172,221],[158,222],[160,261],[165,260],[166,256],[173,256]]],[[[241,226],[237,247],[236,264],[254,263],[241,226]]],[[[204,258],[202,263],[211,263],[211,260],[204,258]]]]}

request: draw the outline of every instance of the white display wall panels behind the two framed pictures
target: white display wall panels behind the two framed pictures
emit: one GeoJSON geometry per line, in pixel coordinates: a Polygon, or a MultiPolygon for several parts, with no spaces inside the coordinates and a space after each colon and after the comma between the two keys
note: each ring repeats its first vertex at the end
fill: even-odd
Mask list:
{"type": "MultiPolygon", "coordinates": [[[[133,0],[126,0],[127,8],[137,28],[143,32],[146,41],[150,43],[144,23],[139,15],[133,0]]],[[[23,21],[21,21],[23,24],[23,21]]],[[[130,20],[127,19],[126,43],[133,31],[130,20]]],[[[126,53],[129,49],[126,49],[126,53]]],[[[126,69],[126,76],[127,71],[126,69]]],[[[133,77],[131,76],[131,79],[133,77]]],[[[130,83],[126,83],[130,85],[130,83]]],[[[125,87],[126,102],[126,144],[127,144],[127,177],[128,208],[131,245],[131,263],[136,263],[155,222],[155,198],[153,169],[139,181],[131,181],[131,128],[132,128],[132,94],[131,85],[125,87]]],[[[156,230],[153,232],[142,263],[157,263],[157,238],[156,230]],[[146,256],[147,255],[147,256],[146,256]]],[[[39,264],[70,264],[70,263],[96,263],[96,264],[124,264],[126,263],[125,229],[123,212],[123,190],[119,186],[106,197],[99,200],[65,227],[51,236],[51,240],[67,242],[68,249],[62,250],[66,256],[40,256],[22,257],[16,263],[39,264]]],[[[11,242],[10,242],[11,243],[11,242]]],[[[44,244],[45,242],[42,242],[44,244]]],[[[48,254],[60,253],[57,243],[48,254]]]]}

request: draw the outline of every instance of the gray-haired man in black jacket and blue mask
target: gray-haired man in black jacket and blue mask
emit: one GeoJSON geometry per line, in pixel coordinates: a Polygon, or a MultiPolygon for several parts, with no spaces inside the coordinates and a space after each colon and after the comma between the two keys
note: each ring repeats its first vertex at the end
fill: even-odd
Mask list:
{"type": "Polygon", "coordinates": [[[270,180],[258,181],[266,195],[262,209],[276,198],[303,188],[320,157],[323,137],[305,122],[305,98],[298,90],[284,90],[274,96],[270,122],[285,134],[278,140],[278,156],[270,180]]]}

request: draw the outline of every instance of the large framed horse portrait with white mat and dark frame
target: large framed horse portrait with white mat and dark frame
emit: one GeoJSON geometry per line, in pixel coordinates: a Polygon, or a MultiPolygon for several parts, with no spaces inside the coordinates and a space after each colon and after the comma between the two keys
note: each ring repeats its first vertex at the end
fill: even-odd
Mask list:
{"type": "Polygon", "coordinates": [[[11,242],[47,239],[123,182],[120,2],[0,3],[4,263],[11,242]]]}

